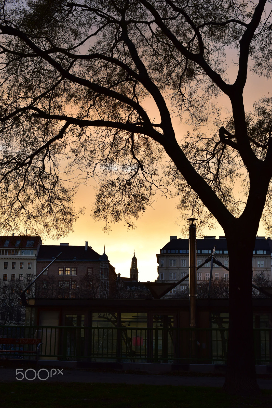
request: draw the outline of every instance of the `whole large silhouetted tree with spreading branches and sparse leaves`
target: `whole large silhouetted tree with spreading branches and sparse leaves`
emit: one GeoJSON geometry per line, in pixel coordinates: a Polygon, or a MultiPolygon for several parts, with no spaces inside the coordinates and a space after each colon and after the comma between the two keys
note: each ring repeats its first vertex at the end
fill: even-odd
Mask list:
{"type": "Polygon", "coordinates": [[[271,77],[271,1],[1,4],[2,228],[11,231],[23,220],[55,236],[68,231],[74,191],[64,180],[100,181],[94,217],[106,226],[132,225],[157,190],[176,191],[185,220],[192,212],[198,228],[216,220],[226,235],[224,389],[259,392],[252,252],[260,220],[272,227],[272,100],[262,98],[245,112],[243,90],[249,69],[271,77]],[[217,104],[222,94],[229,112],[217,104]],[[182,140],[172,115],[191,126],[182,140]],[[165,153],[164,177],[159,163],[165,153]]]}

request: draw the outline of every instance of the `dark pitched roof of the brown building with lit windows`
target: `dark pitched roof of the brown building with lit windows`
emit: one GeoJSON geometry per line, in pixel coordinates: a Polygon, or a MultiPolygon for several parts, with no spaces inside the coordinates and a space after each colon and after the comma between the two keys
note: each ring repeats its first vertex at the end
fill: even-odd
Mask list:
{"type": "Polygon", "coordinates": [[[55,258],[59,253],[59,260],[75,260],[77,261],[99,261],[101,256],[99,253],[95,252],[90,246],[88,246],[87,251],[85,251],[85,246],[79,245],[42,245],[39,248],[39,253],[37,256],[37,261],[41,260],[51,260],[55,258]]]}

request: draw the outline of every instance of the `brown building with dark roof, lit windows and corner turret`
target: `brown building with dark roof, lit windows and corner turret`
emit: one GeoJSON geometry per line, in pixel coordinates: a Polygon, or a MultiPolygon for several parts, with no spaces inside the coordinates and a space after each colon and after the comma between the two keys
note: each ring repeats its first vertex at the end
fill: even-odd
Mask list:
{"type": "Polygon", "coordinates": [[[39,295],[52,292],[53,297],[59,298],[95,298],[111,297],[115,293],[117,275],[114,267],[105,250],[100,255],[88,246],[88,242],[85,246],[42,245],[37,257],[36,275],[59,253],[59,257],[39,278],[39,295]]]}

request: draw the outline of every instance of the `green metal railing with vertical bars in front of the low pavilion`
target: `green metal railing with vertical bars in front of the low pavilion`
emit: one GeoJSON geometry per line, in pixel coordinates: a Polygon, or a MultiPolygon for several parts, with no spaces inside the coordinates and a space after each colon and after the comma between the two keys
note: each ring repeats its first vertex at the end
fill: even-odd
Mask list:
{"type": "MultiPolygon", "coordinates": [[[[272,363],[270,328],[254,329],[256,364],[272,363]]],[[[120,361],[225,364],[228,353],[226,328],[136,328],[75,326],[0,326],[0,338],[42,339],[40,359],[77,361],[120,361]],[[195,336],[192,336],[192,330],[195,336]],[[195,355],[190,354],[190,338],[195,339],[195,355]]],[[[32,345],[0,345],[20,351],[35,350],[32,345]]]]}

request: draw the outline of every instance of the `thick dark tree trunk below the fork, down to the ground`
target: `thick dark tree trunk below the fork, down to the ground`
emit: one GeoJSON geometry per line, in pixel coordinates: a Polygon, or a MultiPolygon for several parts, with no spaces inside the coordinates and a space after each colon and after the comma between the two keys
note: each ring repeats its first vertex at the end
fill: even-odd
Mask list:
{"type": "Polygon", "coordinates": [[[252,316],[252,254],[255,236],[251,234],[248,237],[246,231],[241,229],[239,235],[233,233],[232,239],[227,239],[227,242],[230,271],[229,337],[223,389],[233,394],[256,395],[260,390],[255,370],[252,316]]]}

